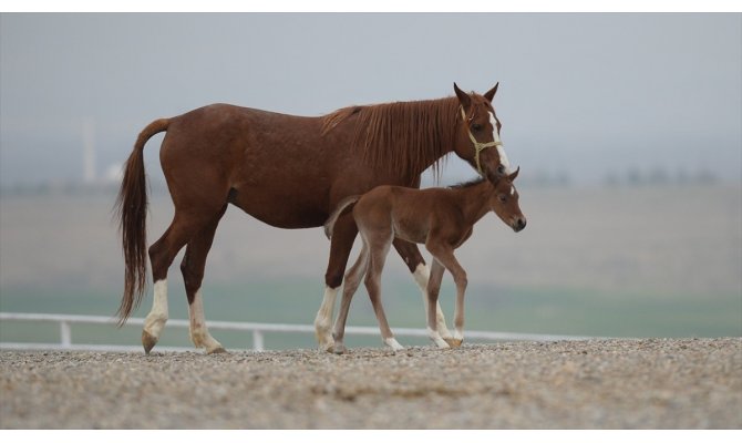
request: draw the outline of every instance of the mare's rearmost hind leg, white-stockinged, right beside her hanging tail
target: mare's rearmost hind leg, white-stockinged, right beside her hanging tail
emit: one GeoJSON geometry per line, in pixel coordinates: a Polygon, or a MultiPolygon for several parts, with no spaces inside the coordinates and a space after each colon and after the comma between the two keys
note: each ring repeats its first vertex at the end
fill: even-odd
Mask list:
{"type": "Polygon", "coordinates": [[[152,264],[152,280],[154,281],[154,300],[152,310],[144,320],[142,330],[142,346],[150,353],[157,344],[159,334],[167,322],[167,268],[178,251],[190,238],[208,224],[213,218],[194,215],[175,209],[171,226],[162,237],[150,247],[150,262],[152,264]]]}

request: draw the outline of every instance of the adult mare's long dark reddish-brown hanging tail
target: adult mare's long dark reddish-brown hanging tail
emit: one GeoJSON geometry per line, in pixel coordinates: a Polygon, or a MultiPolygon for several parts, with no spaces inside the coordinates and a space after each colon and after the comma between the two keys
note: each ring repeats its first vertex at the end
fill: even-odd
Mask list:
{"type": "Polygon", "coordinates": [[[123,326],[140,306],[147,282],[147,188],[144,176],[144,144],[153,135],[167,131],[169,120],[156,120],[140,133],[134,150],[126,161],[124,178],[116,198],[116,218],[122,235],[122,248],[126,270],[124,275],[124,295],[116,315],[123,326]]]}

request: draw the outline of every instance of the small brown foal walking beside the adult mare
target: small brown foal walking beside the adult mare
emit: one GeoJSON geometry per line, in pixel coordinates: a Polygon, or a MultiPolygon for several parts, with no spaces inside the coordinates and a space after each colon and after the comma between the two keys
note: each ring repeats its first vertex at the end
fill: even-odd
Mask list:
{"type": "Polygon", "coordinates": [[[472,235],[474,224],[493,210],[516,233],[526,227],[526,218],[518,205],[518,193],[513,186],[518,168],[513,174],[492,184],[478,178],[451,188],[411,189],[400,186],[379,186],[362,196],[348,197],[338,205],[324,225],[324,233],[332,238],[333,225],[346,208],[352,206],[355,226],[361,234],[363,246],[355,264],[346,274],[346,286],[338,319],[334,323],[334,352],[344,352],[343,336],[350,301],[365,275],[365,289],[379,321],[384,344],[394,350],[403,347],[394,339],[387,322],[381,303],[381,272],[395,238],[424,244],[433,255],[430,280],[427,281],[427,303],[425,303],[427,333],[439,348],[458,347],[464,339],[464,291],[466,271],[461,267],[453,251],[472,235]],[[447,269],[456,285],[454,310],[454,337],[445,340],[436,328],[435,311],[441,279],[447,269]]]}

